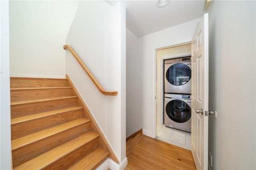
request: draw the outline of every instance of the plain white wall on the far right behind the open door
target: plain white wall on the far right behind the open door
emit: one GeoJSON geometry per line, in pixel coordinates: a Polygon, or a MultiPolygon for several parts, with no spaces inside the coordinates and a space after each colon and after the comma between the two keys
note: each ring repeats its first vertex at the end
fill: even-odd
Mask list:
{"type": "Polygon", "coordinates": [[[256,1],[214,1],[209,12],[212,169],[256,169],[256,1]]]}

